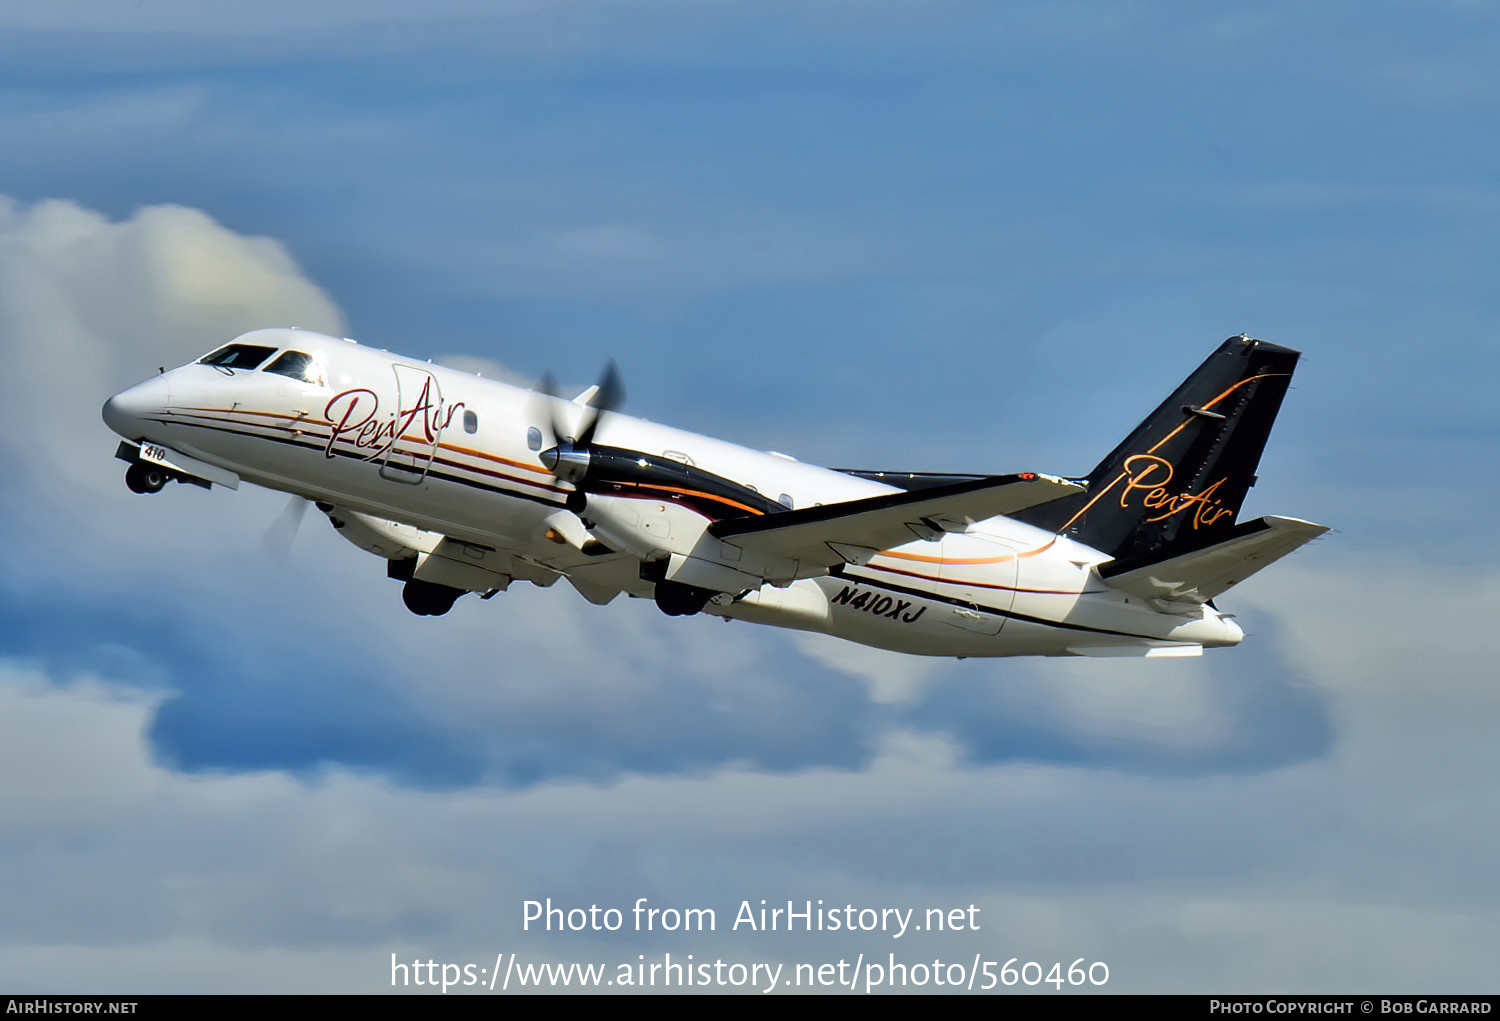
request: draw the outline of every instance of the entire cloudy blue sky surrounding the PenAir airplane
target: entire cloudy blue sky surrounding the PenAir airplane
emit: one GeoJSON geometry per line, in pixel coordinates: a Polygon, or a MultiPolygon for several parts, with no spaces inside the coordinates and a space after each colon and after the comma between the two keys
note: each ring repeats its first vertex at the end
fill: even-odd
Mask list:
{"type": "Polygon", "coordinates": [[[1120,991],[1492,990],[1497,39],[1467,3],[0,3],[0,988],[886,949],[519,931],[646,895],[978,903],[916,949],[1120,991]],[[1245,331],[1305,351],[1246,511],[1338,531],[1198,663],[562,586],[412,618],[312,517],[268,561],[273,495],[120,481],[110,393],[280,324],[614,357],[634,414],[820,463],[1064,474],[1245,331]]]}

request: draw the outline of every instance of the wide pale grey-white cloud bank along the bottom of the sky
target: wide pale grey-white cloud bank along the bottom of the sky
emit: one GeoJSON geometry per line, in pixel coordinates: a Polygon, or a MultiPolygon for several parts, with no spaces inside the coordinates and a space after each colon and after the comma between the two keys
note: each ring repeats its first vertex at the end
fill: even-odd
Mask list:
{"type": "Polygon", "coordinates": [[[140,696],[39,681],[0,673],[6,736],[45,739],[33,768],[74,766],[46,789],[66,811],[22,811],[3,831],[8,988],[76,990],[87,973],[122,991],[375,993],[392,952],[614,964],[664,951],[790,963],[862,951],[1084,955],[1110,966],[1118,991],[1456,991],[1476,988],[1497,934],[1497,891],[1476,882],[1494,823],[1472,811],[1434,820],[1434,853],[1402,835],[1407,795],[1378,816],[1341,808],[1362,780],[1338,763],[1160,783],[964,769],[940,741],[892,735],[867,769],[796,775],[454,793],[339,771],[194,778],[150,762],[140,696]],[[524,933],[522,901],[543,897],[712,907],[720,927],[524,933]],[[974,903],[981,930],[900,943],[729,931],[740,900],[807,897],[918,913],[974,903]]]}

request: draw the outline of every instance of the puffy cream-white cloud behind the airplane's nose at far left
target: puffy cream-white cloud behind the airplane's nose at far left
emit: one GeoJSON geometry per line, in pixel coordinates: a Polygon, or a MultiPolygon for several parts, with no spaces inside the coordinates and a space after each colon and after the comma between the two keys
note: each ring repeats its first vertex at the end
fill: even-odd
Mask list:
{"type": "Polygon", "coordinates": [[[0,196],[0,352],[27,381],[0,409],[0,451],[39,478],[96,489],[114,447],[99,420],[110,394],[266,325],[342,330],[278,241],[177,205],[111,222],[0,196]]]}

